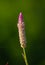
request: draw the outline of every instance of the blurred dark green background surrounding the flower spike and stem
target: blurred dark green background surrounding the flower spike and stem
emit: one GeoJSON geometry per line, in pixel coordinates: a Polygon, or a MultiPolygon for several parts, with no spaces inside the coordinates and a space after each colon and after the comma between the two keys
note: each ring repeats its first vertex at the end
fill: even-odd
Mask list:
{"type": "Polygon", "coordinates": [[[45,0],[0,0],[0,65],[25,65],[18,37],[23,13],[29,65],[45,65],[45,0]]]}

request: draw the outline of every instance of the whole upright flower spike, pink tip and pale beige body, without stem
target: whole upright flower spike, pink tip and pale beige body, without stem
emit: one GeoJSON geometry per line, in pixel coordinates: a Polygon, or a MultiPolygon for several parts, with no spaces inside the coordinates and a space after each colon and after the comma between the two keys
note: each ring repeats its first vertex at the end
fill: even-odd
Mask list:
{"type": "Polygon", "coordinates": [[[25,25],[24,25],[23,15],[21,12],[18,17],[17,27],[19,31],[19,39],[20,39],[21,47],[25,48],[26,47],[25,25]]]}

